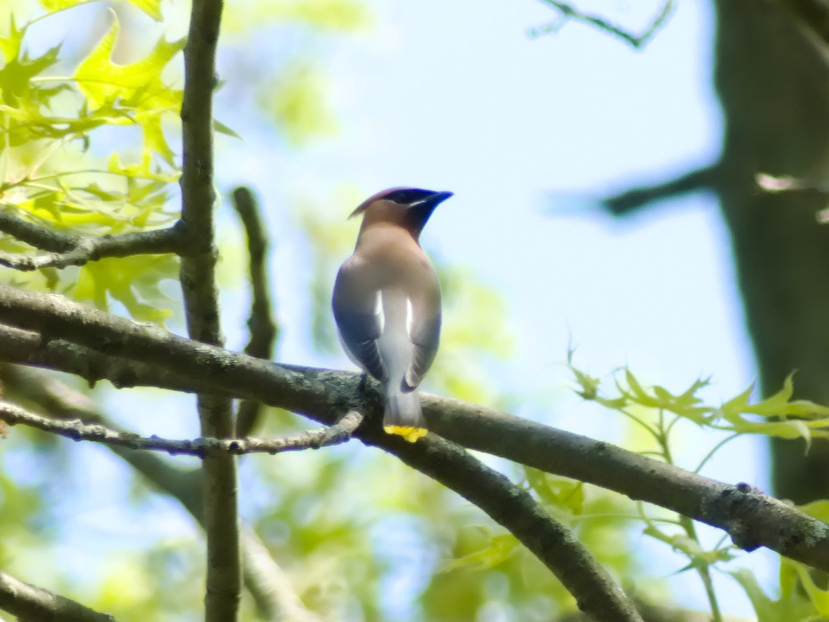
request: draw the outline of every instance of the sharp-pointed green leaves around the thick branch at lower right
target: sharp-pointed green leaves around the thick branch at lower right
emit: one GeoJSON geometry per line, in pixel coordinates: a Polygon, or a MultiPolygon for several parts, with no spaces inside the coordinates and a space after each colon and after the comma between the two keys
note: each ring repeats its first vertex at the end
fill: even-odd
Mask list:
{"type": "MultiPolygon", "coordinates": [[[[737,436],[761,434],[784,439],[802,438],[808,448],[814,438],[829,434],[829,407],[807,400],[793,399],[794,374],[789,374],[783,387],[765,399],[754,400],[754,385],[720,405],[706,404],[700,396],[710,379],[697,379],[682,393],[671,393],[666,388],[647,386],[630,369],[622,369],[613,377],[613,389],[603,392],[603,383],[574,367],[572,353],[569,367],[574,374],[575,393],[585,400],[599,403],[610,411],[628,417],[646,432],[654,448],[642,451],[668,463],[674,463],[674,449],[678,445],[671,432],[681,421],[699,427],[724,432],[724,440],[696,466],[699,472],[715,452],[737,436]]],[[[829,501],[821,500],[800,509],[823,521],[829,520],[829,501]]],[[[711,581],[712,571],[723,571],[732,576],[748,595],[760,622],[807,622],[825,620],[829,615],[829,590],[818,585],[806,565],[782,558],[779,572],[779,597],[768,596],[759,586],[754,574],[745,569],[729,570],[725,562],[734,559],[736,547],[720,539],[714,547],[703,546],[693,522],[685,517],[665,518],[652,515],[644,504],[638,504],[639,517],[645,535],[667,544],[686,557],[687,564],[680,571],[696,571],[705,586],[714,620],[722,620],[717,597],[711,581]],[[666,528],[673,525],[675,528],[666,528]]]]}

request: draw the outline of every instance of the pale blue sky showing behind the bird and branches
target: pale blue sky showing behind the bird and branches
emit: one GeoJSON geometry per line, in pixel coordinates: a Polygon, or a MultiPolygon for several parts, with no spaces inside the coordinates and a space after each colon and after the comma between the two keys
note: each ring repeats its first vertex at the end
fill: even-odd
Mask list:
{"type": "MultiPolygon", "coordinates": [[[[579,6],[638,31],[661,4],[579,6]]],[[[226,196],[235,185],[253,186],[267,210],[283,325],[280,360],[352,369],[344,354],[308,348],[308,301],[294,292],[307,291],[313,253],[298,234],[293,206],[340,200],[343,189],[364,198],[390,186],[420,186],[455,193],[430,219],[424,248],[467,266],[507,303],[503,323],[516,337],[516,351],[497,377],[521,395],[515,414],[623,440],[628,428],[618,417],[570,390],[563,365],[570,344],[579,368],[608,380],[627,365],[643,381],[681,392],[710,375],[704,395],[713,403],[754,381],[728,234],[714,197],[671,200],[623,220],[599,205],[606,195],[718,157],[709,2],[677,2],[667,26],[643,51],[574,22],[555,34],[529,36],[555,19],[536,0],[375,0],[369,6],[371,27],[353,36],[313,38],[302,28],[276,27],[252,40],[228,31],[221,41],[219,74],[226,82],[216,114],[244,140],[220,137],[219,190],[226,196]],[[241,68],[267,80],[272,65],[309,52],[322,66],[338,128],[297,151],[262,122],[253,91],[235,76],[241,68]]],[[[168,12],[183,9],[165,5],[168,12]]],[[[100,8],[81,7],[67,19],[91,15],[84,11],[100,8]]],[[[73,36],[88,41],[88,33],[73,36]]],[[[154,41],[147,39],[148,45],[154,41]]],[[[330,213],[345,219],[355,206],[331,205],[330,213]]],[[[228,239],[235,235],[229,212],[220,208],[228,239]]],[[[240,349],[246,292],[228,287],[225,303],[228,346],[240,349]]],[[[124,420],[137,422],[139,432],[195,434],[193,417],[168,417],[159,429],[143,417],[147,402],[117,400],[124,420]]],[[[180,400],[191,412],[191,398],[180,400]]],[[[681,431],[686,443],[679,461],[693,468],[715,441],[690,426],[681,431]]],[[[105,454],[79,447],[89,484],[99,489],[112,488],[113,478],[127,479],[126,471],[99,470],[105,454]]],[[[718,452],[704,474],[768,489],[766,462],[763,444],[744,438],[718,452]]],[[[116,497],[79,501],[75,520],[88,533],[109,530],[123,538],[132,528],[134,538],[150,538],[147,524],[124,521],[116,497]]],[[[155,528],[191,533],[190,520],[173,506],[158,507],[155,528]]],[[[705,537],[715,542],[720,533],[705,531],[705,537]]],[[[89,550],[90,536],[77,538],[65,542],[65,554],[89,550]]],[[[653,574],[669,576],[681,567],[662,545],[644,537],[634,542],[653,560],[653,574]]],[[[107,545],[105,538],[98,544],[107,545]]],[[[739,557],[737,566],[751,567],[767,584],[773,578],[768,552],[739,557]]],[[[748,602],[734,581],[716,580],[725,613],[747,615],[748,602]]],[[[696,576],[672,581],[681,603],[705,607],[696,576]]]]}

